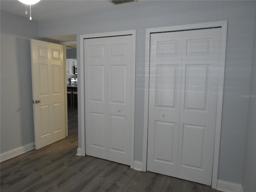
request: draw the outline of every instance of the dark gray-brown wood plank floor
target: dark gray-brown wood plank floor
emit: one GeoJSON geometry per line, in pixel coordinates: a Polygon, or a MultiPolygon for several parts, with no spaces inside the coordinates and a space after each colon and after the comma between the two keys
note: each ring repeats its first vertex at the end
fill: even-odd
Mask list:
{"type": "Polygon", "coordinates": [[[1,163],[1,192],[217,192],[212,188],[129,166],[76,156],[77,108],[68,111],[69,136],[1,163]]]}

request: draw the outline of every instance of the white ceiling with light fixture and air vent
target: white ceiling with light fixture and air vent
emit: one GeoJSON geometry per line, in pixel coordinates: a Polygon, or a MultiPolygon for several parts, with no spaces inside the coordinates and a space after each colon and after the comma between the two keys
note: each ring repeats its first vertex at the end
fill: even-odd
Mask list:
{"type": "MultiPolygon", "coordinates": [[[[31,13],[32,19],[44,21],[116,9],[144,2],[146,1],[115,5],[108,0],[41,0],[37,4],[31,5],[31,13]]],[[[0,7],[1,10],[29,18],[29,6],[27,5],[28,15],[25,15],[26,5],[18,0],[0,0],[0,7]]]]}

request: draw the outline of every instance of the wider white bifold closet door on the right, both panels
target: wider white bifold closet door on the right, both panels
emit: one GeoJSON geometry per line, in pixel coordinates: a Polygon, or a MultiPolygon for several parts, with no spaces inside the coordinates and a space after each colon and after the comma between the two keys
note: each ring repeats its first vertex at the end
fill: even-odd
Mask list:
{"type": "Polygon", "coordinates": [[[151,34],[148,171],[211,185],[220,35],[151,34]]]}

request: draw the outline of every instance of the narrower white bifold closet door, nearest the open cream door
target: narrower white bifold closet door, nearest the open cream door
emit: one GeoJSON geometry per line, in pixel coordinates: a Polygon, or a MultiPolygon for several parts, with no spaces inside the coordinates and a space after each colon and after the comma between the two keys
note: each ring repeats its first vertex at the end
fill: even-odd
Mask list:
{"type": "Polygon", "coordinates": [[[84,39],[86,155],[130,165],[132,35],[84,39]]]}

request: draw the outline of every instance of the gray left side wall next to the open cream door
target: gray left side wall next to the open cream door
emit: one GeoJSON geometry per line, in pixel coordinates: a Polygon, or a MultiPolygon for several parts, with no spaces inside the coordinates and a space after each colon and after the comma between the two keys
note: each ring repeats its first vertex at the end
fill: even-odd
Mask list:
{"type": "Polygon", "coordinates": [[[1,10],[1,153],[34,142],[30,38],[38,27],[1,10]]]}

